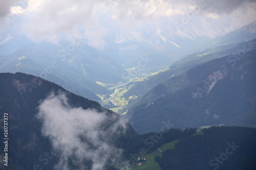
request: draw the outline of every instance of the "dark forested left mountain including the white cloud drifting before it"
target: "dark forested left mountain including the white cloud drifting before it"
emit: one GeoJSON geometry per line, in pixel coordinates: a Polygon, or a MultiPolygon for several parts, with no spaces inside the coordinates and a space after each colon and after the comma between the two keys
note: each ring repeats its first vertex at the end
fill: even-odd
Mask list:
{"type": "Polygon", "coordinates": [[[132,152],[127,137],[140,139],[97,102],[22,73],[0,74],[0,115],[9,138],[1,138],[0,155],[4,161],[7,153],[8,169],[108,169],[132,152]]]}

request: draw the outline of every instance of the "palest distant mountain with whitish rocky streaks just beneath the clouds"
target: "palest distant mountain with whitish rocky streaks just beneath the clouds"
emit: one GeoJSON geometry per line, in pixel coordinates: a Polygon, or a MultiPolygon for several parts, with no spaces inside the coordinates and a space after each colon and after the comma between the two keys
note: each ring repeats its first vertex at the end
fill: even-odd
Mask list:
{"type": "MultiPolygon", "coordinates": [[[[137,67],[139,73],[149,74],[157,69],[169,66],[187,50],[212,40],[212,38],[203,35],[195,36],[197,34],[193,33],[191,35],[193,38],[191,38],[188,36],[191,34],[191,31],[189,31],[188,35],[181,31],[181,34],[186,36],[180,36],[177,32],[164,31],[153,26],[148,28],[148,30],[120,32],[120,30],[114,29],[106,38],[106,41],[109,43],[101,52],[110,56],[111,59],[122,65],[125,69],[137,67]],[[150,61],[145,65],[143,63],[143,68],[138,65],[141,56],[150,58],[150,61]]],[[[174,28],[174,30],[176,29],[174,28]]],[[[189,53],[191,52],[189,51],[186,54],[188,55],[189,53]]]]}

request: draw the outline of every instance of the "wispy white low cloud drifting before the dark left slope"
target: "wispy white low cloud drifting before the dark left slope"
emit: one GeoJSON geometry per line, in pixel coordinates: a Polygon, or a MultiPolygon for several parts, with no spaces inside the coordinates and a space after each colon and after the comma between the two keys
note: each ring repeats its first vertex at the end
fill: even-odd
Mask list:
{"type": "Polygon", "coordinates": [[[98,170],[120,159],[122,150],[113,145],[113,137],[123,132],[126,123],[115,114],[72,108],[64,93],[51,93],[38,108],[42,134],[60,150],[55,169],[67,170],[71,161],[79,169],[98,170]]]}

